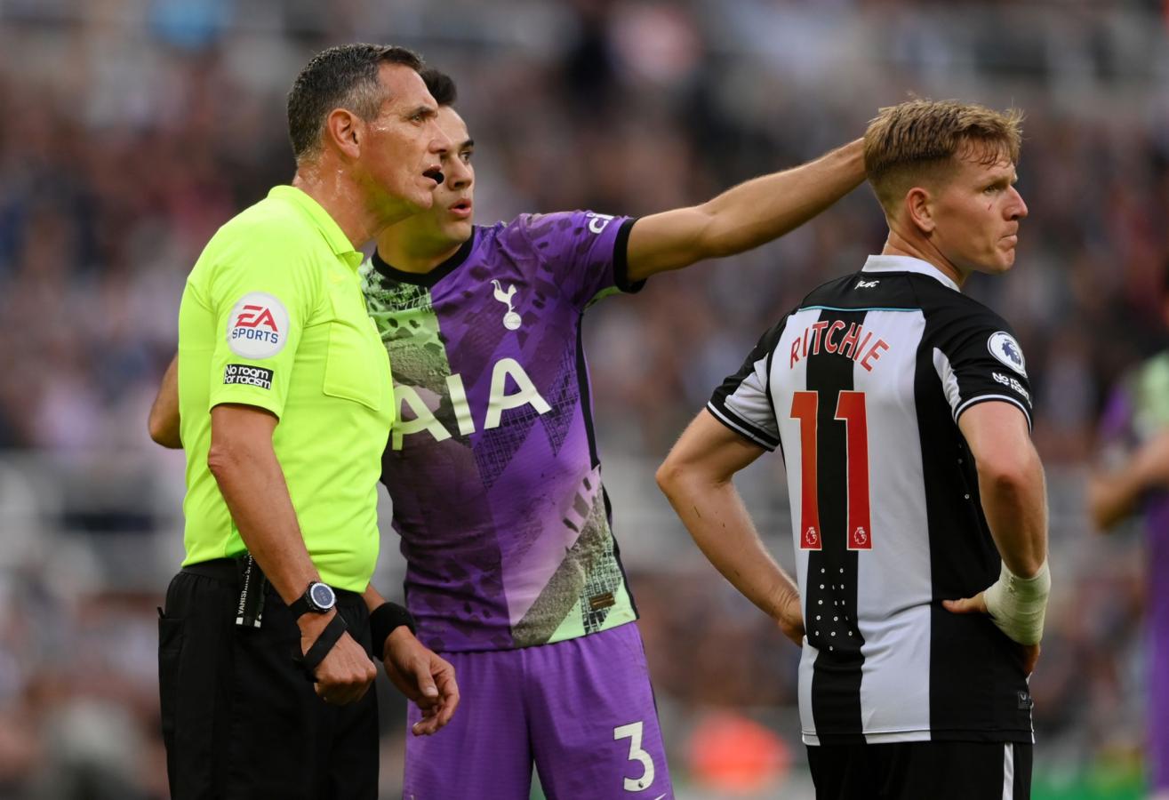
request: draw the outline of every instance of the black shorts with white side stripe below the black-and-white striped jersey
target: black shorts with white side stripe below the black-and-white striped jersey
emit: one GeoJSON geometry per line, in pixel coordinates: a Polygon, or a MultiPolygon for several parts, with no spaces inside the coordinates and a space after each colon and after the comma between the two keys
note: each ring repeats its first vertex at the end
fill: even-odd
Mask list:
{"type": "Polygon", "coordinates": [[[808,747],[816,800],[1028,800],[1031,745],[899,742],[808,747]]]}

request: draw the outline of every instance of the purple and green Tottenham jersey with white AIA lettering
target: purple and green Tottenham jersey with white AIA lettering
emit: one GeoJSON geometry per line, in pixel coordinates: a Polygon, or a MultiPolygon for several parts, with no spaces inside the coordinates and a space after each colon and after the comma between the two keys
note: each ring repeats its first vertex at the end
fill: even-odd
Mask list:
{"type": "Polygon", "coordinates": [[[581,315],[625,280],[634,220],[476,227],[426,275],[362,268],[399,422],[382,458],[407,605],[438,651],[556,642],[636,619],[593,436],[581,315]]]}

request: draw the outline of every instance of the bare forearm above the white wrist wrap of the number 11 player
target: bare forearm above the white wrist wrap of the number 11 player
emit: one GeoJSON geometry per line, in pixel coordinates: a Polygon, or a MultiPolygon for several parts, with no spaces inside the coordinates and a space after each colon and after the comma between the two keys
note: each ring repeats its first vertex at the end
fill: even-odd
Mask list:
{"type": "Polygon", "coordinates": [[[987,523],[1007,568],[1021,578],[1036,574],[1047,558],[1047,502],[1043,467],[1033,451],[1022,468],[978,473],[987,523]]]}

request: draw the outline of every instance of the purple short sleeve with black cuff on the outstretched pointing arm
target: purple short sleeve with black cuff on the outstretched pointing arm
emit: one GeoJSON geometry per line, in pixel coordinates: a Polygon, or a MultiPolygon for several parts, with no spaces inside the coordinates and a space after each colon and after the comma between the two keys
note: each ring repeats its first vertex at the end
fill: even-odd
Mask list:
{"type": "Polygon", "coordinates": [[[611,292],[639,291],[645,284],[629,282],[632,218],[575,211],[530,214],[517,221],[544,269],[579,309],[611,292]]]}

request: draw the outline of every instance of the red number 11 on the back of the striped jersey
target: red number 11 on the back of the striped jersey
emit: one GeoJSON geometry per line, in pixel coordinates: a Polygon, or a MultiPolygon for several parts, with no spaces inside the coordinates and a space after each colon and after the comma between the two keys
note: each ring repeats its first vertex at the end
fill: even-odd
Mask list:
{"type": "MultiPolygon", "coordinates": [[[[819,392],[796,392],[791,395],[791,419],[800,420],[800,549],[821,550],[819,492],[816,477],[816,427],[819,392]]],[[[872,525],[869,518],[869,421],[865,393],[842,391],[836,401],[835,419],[846,426],[846,469],[849,490],[849,550],[872,550],[872,525]]]]}

